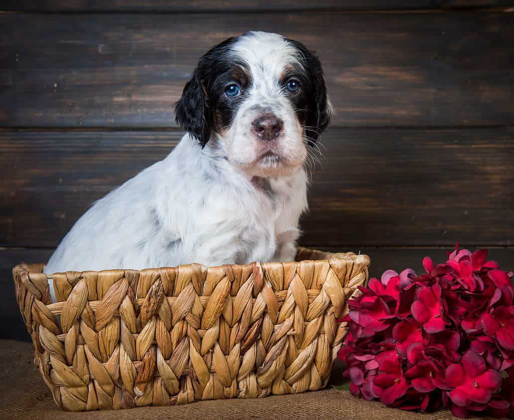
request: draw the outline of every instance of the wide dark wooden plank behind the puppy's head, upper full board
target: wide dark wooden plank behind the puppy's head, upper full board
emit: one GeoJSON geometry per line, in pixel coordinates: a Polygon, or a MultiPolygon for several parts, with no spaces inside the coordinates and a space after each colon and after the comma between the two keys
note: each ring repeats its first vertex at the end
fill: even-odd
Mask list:
{"type": "Polygon", "coordinates": [[[514,13],[3,13],[0,26],[4,127],[174,126],[199,56],[248,29],[317,50],[333,126],[514,122],[514,13]]]}

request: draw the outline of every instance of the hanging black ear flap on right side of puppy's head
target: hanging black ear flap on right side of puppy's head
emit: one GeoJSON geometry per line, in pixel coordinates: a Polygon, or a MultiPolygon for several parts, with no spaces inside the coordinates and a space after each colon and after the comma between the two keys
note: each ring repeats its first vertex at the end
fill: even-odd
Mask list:
{"type": "Polygon", "coordinates": [[[305,130],[305,134],[307,135],[309,143],[311,143],[318,140],[318,137],[328,126],[332,118],[333,110],[327,97],[321,63],[313,52],[307,51],[307,53],[307,63],[313,86],[313,94],[309,101],[309,113],[306,122],[308,128],[305,130]]]}

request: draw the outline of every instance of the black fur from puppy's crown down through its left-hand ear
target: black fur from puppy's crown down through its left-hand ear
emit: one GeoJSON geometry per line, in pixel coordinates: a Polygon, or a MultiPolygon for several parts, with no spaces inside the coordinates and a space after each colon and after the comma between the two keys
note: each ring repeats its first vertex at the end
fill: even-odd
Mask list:
{"type": "MultiPolygon", "coordinates": [[[[175,121],[188,130],[204,147],[211,137],[214,121],[214,81],[230,67],[229,51],[238,37],[231,37],[211,48],[198,62],[191,80],[175,105],[175,121]]],[[[233,60],[232,60],[233,61],[233,60]]]]}

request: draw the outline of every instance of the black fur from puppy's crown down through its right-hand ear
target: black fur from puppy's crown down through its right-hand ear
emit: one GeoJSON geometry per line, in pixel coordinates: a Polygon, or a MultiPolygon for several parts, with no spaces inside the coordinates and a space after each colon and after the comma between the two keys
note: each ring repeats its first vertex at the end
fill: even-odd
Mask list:
{"type": "Polygon", "coordinates": [[[309,143],[318,140],[323,130],[328,126],[332,117],[332,108],[328,103],[323,69],[319,58],[313,51],[308,50],[301,42],[287,40],[300,53],[300,60],[308,81],[307,108],[305,120],[305,135],[309,143]]]}

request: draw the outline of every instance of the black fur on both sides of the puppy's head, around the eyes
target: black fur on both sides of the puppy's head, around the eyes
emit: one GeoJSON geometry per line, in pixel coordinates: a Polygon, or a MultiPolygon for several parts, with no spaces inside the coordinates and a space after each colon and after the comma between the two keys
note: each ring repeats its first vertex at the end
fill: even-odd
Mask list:
{"type": "MultiPolygon", "coordinates": [[[[209,141],[211,130],[223,132],[231,125],[238,107],[246,98],[245,92],[252,84],[245,63],[230,55],[231,47],[239,39],[240,36],[231,37],[200,58],[176,104],[176,122],[188,130],[202,147],[209,141]],[[224,94],[225,87],[231,83],[241,89],[241,94],[235,98],[227,98],[224,94]]],[[[298,93],[290,93],[285,87],[284,91],[289,95],[301,124],[306,127],[305,135],[309,143],[313,143],[331,118],[323,70],[314,52],[301,42],[285,40],[298,50],[303,67],[288,66],[281,83],[285,85],[290,77],[300,81],[298,93]]]]}

